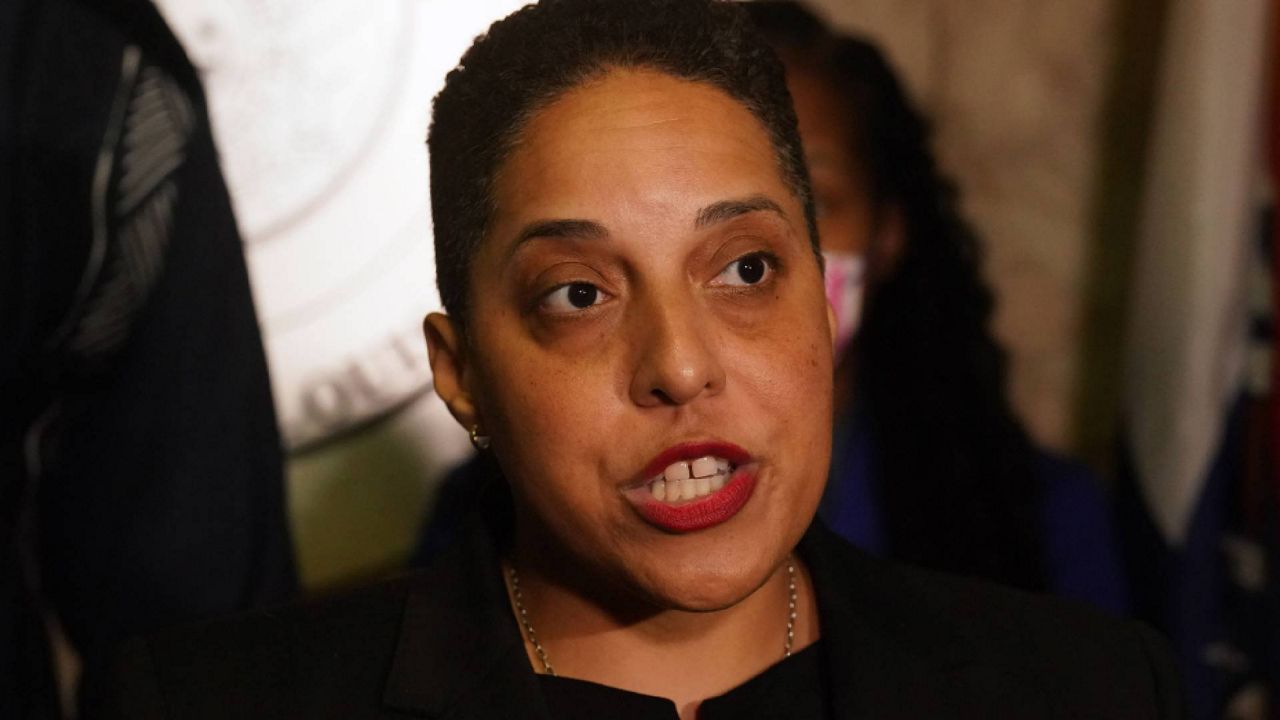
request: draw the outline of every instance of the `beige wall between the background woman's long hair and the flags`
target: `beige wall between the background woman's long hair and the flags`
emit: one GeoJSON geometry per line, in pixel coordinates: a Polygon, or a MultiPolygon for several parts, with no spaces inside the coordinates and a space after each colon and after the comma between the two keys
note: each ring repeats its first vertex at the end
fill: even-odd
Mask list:
{"type": "Polygon", "coordinates": [[[1068,450],[1114,0],[814,4],[878,40],[933,117],[986,240],[1014,404],[1037,439],[1068,450]]]}

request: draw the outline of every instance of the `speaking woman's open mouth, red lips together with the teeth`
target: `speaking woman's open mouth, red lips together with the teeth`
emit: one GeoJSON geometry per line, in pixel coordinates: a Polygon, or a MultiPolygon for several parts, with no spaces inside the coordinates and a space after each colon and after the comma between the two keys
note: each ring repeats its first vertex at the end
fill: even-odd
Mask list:
{"type": "Polygon", "coordinates": [[[733,518],[755,489],[758,464],[726,442],[669,447],[643,470],[643,480],[623,495],[649,524],[690,533],[733,518]]]}

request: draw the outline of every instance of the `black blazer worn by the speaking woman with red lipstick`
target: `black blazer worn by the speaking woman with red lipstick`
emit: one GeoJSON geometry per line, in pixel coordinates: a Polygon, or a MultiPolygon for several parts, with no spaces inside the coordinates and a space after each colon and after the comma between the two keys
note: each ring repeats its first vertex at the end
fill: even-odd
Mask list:
{"type": "MultiPolygon", "coordinates": [[[[1083,606],[873,559],[815,524],[836,717],[1181,717],[1164,643],[1083,606]]],[[[131,644],[124,717],[548,717],[493,536],[340,598],[131,644]]]]}

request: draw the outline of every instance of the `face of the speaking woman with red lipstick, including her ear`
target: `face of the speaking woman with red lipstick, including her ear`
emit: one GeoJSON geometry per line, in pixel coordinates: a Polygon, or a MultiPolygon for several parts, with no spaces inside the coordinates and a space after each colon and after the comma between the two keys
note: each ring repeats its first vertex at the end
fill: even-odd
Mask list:
{"type": "Polygon", "coordinates": [[[529,122],[495,205],[470,340],[439,333],[433,365],[493,438],[520,561],[658,609],[742,600],[831,450],[822,273],[764,128],[709,86],[613,70],[529,122]]]}

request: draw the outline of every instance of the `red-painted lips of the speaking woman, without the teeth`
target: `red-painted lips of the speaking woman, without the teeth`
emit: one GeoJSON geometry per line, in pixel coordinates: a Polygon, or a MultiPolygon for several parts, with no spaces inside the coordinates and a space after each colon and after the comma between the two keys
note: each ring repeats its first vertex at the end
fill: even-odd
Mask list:
{"type": "Polygon", "coordinates": [[[681,443],[664,450],[645,465],[644,477],[652,479],[672,462],[707,456],[722,457],[736,466],[724,487],[712,495],[671,505],[655,500],[645,483],[628,491],[627,500],[645,521],[669,533],[691,533],[727,521],[737,515],[755,491],[758,466],[741,447],[724,442],[681,443]]]}

